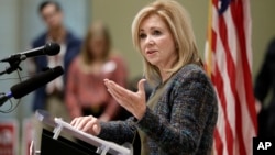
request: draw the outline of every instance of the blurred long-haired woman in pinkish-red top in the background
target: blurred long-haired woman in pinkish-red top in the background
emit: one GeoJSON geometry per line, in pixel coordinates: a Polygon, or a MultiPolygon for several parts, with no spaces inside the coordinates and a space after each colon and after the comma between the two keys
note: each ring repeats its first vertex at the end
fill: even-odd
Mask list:
{"type": "Polygon", "coordinates": [[[73,119],[92,114],[101,121],[110,121],[118,117],[121,108],[107,91],[105,78],[125,87],[127,67],[123,59],[112,53],[107,26],[95,22],[68,73],[66,104],[73,119]]]}

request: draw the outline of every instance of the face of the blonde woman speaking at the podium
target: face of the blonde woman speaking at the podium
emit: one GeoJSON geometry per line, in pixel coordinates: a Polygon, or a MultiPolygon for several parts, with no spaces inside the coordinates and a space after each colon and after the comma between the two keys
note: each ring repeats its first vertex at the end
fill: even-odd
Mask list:
{"type": "Polygon", "coordinates": [[[150,15],[140,25],[140,47],[148,63],[160,69],[169,69],[177,59],[175,41],[158,15],[150,15]]]}

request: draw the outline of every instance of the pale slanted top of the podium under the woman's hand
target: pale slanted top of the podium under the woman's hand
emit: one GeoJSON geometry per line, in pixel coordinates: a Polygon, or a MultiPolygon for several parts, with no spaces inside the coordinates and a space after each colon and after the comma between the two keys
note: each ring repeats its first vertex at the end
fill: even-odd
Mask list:
{"type": "Polygon", "coordinates": [[[66,132],[72,134],[73,136],[85,141],[96,147],[98,147],[97,153],[105,155],[107,153],[112,155],[132,155],[133,152],[131,148],[127,148],[124,146],[120,146],[113,142],[105,141],[91,134],[85,133],[72,126],[69,123],[63,121],[61,118],[52,118],[46,111],[37,110],[36,118],[43,123],[51,125],[54,129],[53,139],[57,140],[61,132],[66,132]]]}

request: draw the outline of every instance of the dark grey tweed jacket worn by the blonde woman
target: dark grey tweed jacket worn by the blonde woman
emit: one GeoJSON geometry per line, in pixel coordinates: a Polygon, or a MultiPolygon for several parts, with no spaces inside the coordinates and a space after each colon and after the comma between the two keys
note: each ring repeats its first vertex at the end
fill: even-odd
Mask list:
{"type": "Polygon", "coordinates": [[[148,136],[151,155],[210,155],[218,118],[216,92],[204,69],[190,64],[172,79],[154,111],[142,120],[101,123],[99,137],[132,142],[136,129],[148,136]]]}

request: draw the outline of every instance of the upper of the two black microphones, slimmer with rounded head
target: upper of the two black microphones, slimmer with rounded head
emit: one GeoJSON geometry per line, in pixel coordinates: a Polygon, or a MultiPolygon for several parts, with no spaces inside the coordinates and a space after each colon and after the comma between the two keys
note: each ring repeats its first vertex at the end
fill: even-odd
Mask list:
{"type": "Polygon", "coordinates": [[[58,54],[61,51],[61,46],[57,43],[46,43],[44,46],[33,48],[26,52],[13,54],[7,58],[1,59],[0,62],[16,62],[16,60],[24,60],[28,57],[35,57],[42,55],[53,56],[58,54]]]}

